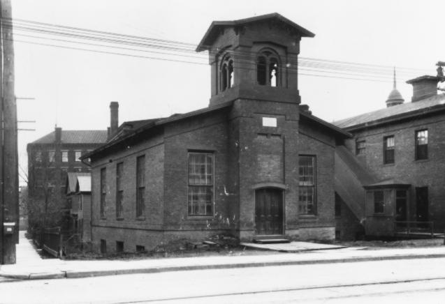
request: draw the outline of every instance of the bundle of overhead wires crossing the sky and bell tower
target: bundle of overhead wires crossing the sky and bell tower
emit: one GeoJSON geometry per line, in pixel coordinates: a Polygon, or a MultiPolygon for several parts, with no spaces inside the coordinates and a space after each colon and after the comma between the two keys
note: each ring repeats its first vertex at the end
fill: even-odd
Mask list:
{"type": "MultiPolygon", "coordinates": [[[[196,54],[196,45],[191,43],[182,43],[174,40],[163,40],[157,38],[147,38],[141,36],[126,35],[120,33],[112,33],[108,31],[96,31],[92,29],[80,29],[73,26],[61,26],[56,24],[47,24],[43,22],[34,22],[29,20],[1,20],[6,26],[13,26],[15,31],[34,32],[34,34],[42,36],[31,36],[24,33],[15,33],[16,36],[31,38],[32,40],[15,40],[20,43],[30,43],[34,45],[46,45],[50,47],[59,47],[71,50],[82,50],[103,54],[114,54],[132,56],[137,58],[155,59],[161,61],[173,61],[179,63],[193,63],[207,65],[207,56],[217,55],[220,50],[209,51],[208,55],[200,53],[196,54]],[[31,26],[31,25],[33,26],[31,26]],[[54,38],[54,36],[63,36],[66,39],[54,38]],[[74,43],[81,45],[88,45],[89,47],[99,47],[101,50],[91,50],[82,47],[72,47],[67,45],[55,45],[49,43],[38,43],[35,40],[52,40],[59,43],[74,43]],[[87,43],[85,40],[94,40],[98,43],[87,43]],[[149,42],[149,43],[147,43],[149,42]],[[131,47],[119,47],[117,45],[126,45],[131,47]],[[105,50],[103,50],[105,48],[105,50]],[[111,50],[125,50],[130,52],[149,52],[161,56],[142,56],[139,54],[126,54],[122,52],[110,52],[111,50]],[[193,52],[194,55],[187,54],[193,52]],[[167,56],[167,57],[166,57],[167,56]],[[196,59],[196,61],[175,59],[175,57],[187,57],[189,59],[196,59]],[[173,57],[173,58],[171,58],[173,57]],[[198,62],[198,60],[203,62],[198,62]],[[204,61],[205,60],[205,61],[204,61]]],[[[232,52],[233,57],[240,61],[246,61],[245,64],[256,65],[256,56],[251,52],[232,52]]],[[[351,63],[347,61],[335,61],[329,59],[313,59],[309,57],[300,57],[299,60],[291,60],[286,62],[288,68],[286,70],[299,70],[319,73],[317,75],[300,73],[305,76],[319,76],[319,77],[333,77],[333,75],[348,75],[356,76],[358,80],[374,80],[385,79],[382,81],[389,82],[392,79],[393,67],[381,66],[368,63],[351,63]],[[320,75],[321,73],[327,75],[320,75]],[[333,74],[333,75],[332,75],[333,74]],[[377,79],[375,79],[377,78],[377,79]]],[[[252,69],[255,67],[252,66],[252,69]]],[[[424,71],[417,68],[397,68],[399,75],[414,75],[424,71]],[[416,71],[416,72],[415,72],[416,71]]],[[[337,77],[342,79],[351,79],[352,77],[337,77]]]]}

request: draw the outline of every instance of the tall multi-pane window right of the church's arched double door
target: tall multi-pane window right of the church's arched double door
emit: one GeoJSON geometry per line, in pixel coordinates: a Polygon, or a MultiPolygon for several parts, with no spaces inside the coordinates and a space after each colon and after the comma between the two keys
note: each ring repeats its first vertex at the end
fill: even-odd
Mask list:
{"type": "Polygon", "coordinates": [[[313,215],[316,213],[315,156],[299,155],[298,167],[298,212],[313,215]]]}

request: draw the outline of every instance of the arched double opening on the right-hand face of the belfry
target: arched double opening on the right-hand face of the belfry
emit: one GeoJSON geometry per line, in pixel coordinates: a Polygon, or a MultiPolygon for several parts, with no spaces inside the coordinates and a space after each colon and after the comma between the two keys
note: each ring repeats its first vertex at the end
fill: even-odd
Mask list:
{"type": "Polygon", "coordinates": [[[262,86],[279,86],[278,55],[271,50],[261,52],[256,59],[256,81],[262,86]]]}

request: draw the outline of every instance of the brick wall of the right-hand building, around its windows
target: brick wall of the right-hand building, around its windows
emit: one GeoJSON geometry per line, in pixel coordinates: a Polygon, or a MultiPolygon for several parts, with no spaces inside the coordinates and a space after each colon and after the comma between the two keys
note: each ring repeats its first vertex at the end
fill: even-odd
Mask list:
{"type": "Polygon", "coordinates": [[[416,120],[393,123],[391,126],[361,130],[347,145],[355,153],[355,141],[366,140],[363,164],[381,180],[397,178],[411,184],[409,190],[410,220],[416,215],[416,187],[428,186],[430,220],[437,231],[445,228],[445,116],[436,115],[416,120]],[[428,160],[415,160],[415,131],[428,129],[428,160]],[[383,139],[395,137],[395,163],[384,165],[383,139]]]}

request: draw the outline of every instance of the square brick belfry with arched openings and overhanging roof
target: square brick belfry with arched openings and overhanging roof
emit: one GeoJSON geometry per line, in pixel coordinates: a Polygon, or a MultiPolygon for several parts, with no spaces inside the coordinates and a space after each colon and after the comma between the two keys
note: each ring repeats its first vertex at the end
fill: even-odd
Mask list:
{"type": "Polygon", "coordinates": [[[238,98],[300,103],[302,37],[314,33],[278,13],[212,22],[196,48],[209,52],[210,105],[238,98]]]}

